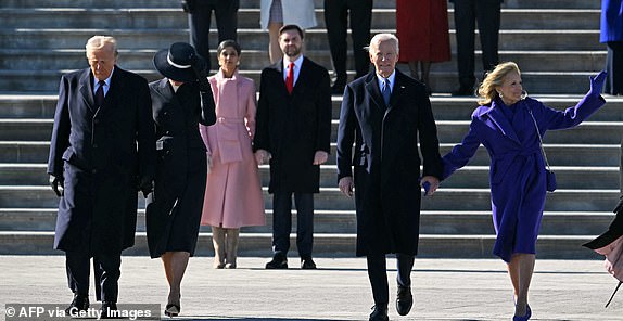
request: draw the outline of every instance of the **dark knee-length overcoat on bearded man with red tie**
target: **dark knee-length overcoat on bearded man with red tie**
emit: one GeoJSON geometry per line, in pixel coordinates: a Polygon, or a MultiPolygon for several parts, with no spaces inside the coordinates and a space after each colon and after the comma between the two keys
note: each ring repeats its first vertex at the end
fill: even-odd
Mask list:
{"type": "Polygon", "coordinates": [[[327,69],[304,57],[292,94],[283,62],[264,68],[253,150],[271,153],[268,192],[318,193],[317,151],[330,152],[331,87],[327,69]]]}

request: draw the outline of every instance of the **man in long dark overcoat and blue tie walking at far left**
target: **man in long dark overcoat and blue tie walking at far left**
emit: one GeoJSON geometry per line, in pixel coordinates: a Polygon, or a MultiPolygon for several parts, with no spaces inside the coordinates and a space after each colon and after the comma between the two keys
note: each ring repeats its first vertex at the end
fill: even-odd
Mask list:
{"type": "Polygon", "coordinates": [[[152,190],[155,159],[147,80],[116,66],[114,38],[94,36],[86,50],[90,68],[61,78],[48,160],[61,197],[54,248],[65,252],[71,313],[89,307],[91,257],[102,311],[116,309],[120,254],[135,242],[137,191],[152,190]]]}

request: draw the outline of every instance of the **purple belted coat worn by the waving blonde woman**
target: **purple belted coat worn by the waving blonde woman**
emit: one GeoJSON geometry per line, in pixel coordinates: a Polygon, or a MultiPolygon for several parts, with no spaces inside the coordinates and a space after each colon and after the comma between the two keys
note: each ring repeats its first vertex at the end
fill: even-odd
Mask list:
{"type": "Polygon", "coordinates": [[[501,100],[479,106],[469,132],[443,157],[443,178],[463,167],[482,143],[491,156],[491,203],[497,239],[493,253],[510,261],[513,253],[536,253],[536,237],[546,194],[545,160],[536,124],[547,130],[577,126],[606,103],[599,94],[586,94],[575,106],[557,111],[526,98],[505,113],[501,100]],[[530,115],[532,111],[534,119],[530,115]],[[508,115],[512,115],[509,119],[508,115]]]}

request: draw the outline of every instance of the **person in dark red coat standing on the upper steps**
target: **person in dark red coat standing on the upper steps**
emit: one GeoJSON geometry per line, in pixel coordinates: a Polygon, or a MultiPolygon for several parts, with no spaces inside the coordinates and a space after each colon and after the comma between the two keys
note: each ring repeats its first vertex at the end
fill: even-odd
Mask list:
{"type": "Polygon", "coordinates": [[[424,82],[431,94],[431,63],[450,60],[446,1],[396,0],[396,36],[400,39],[398,62],[409,64],[411,77],[424,82]]]}

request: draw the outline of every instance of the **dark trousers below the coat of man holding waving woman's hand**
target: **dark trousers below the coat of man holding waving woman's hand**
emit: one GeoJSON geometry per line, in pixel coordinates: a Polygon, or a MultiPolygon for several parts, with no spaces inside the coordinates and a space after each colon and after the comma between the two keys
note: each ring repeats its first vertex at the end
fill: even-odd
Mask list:
{"type": "MultiPolygon", "coordinates": [[[[411,270],[414,269],[415,256],[409,254],[396,254],[396,268],[398,275],[396,281],[402,286],[411,286],[411,270]]],[[[387,266],[384,254],[368,254],[368,278],[372,285],[372,296],[376,306],[386,306],[390,301],[390,286],[387,284],[387,266]]]]}

